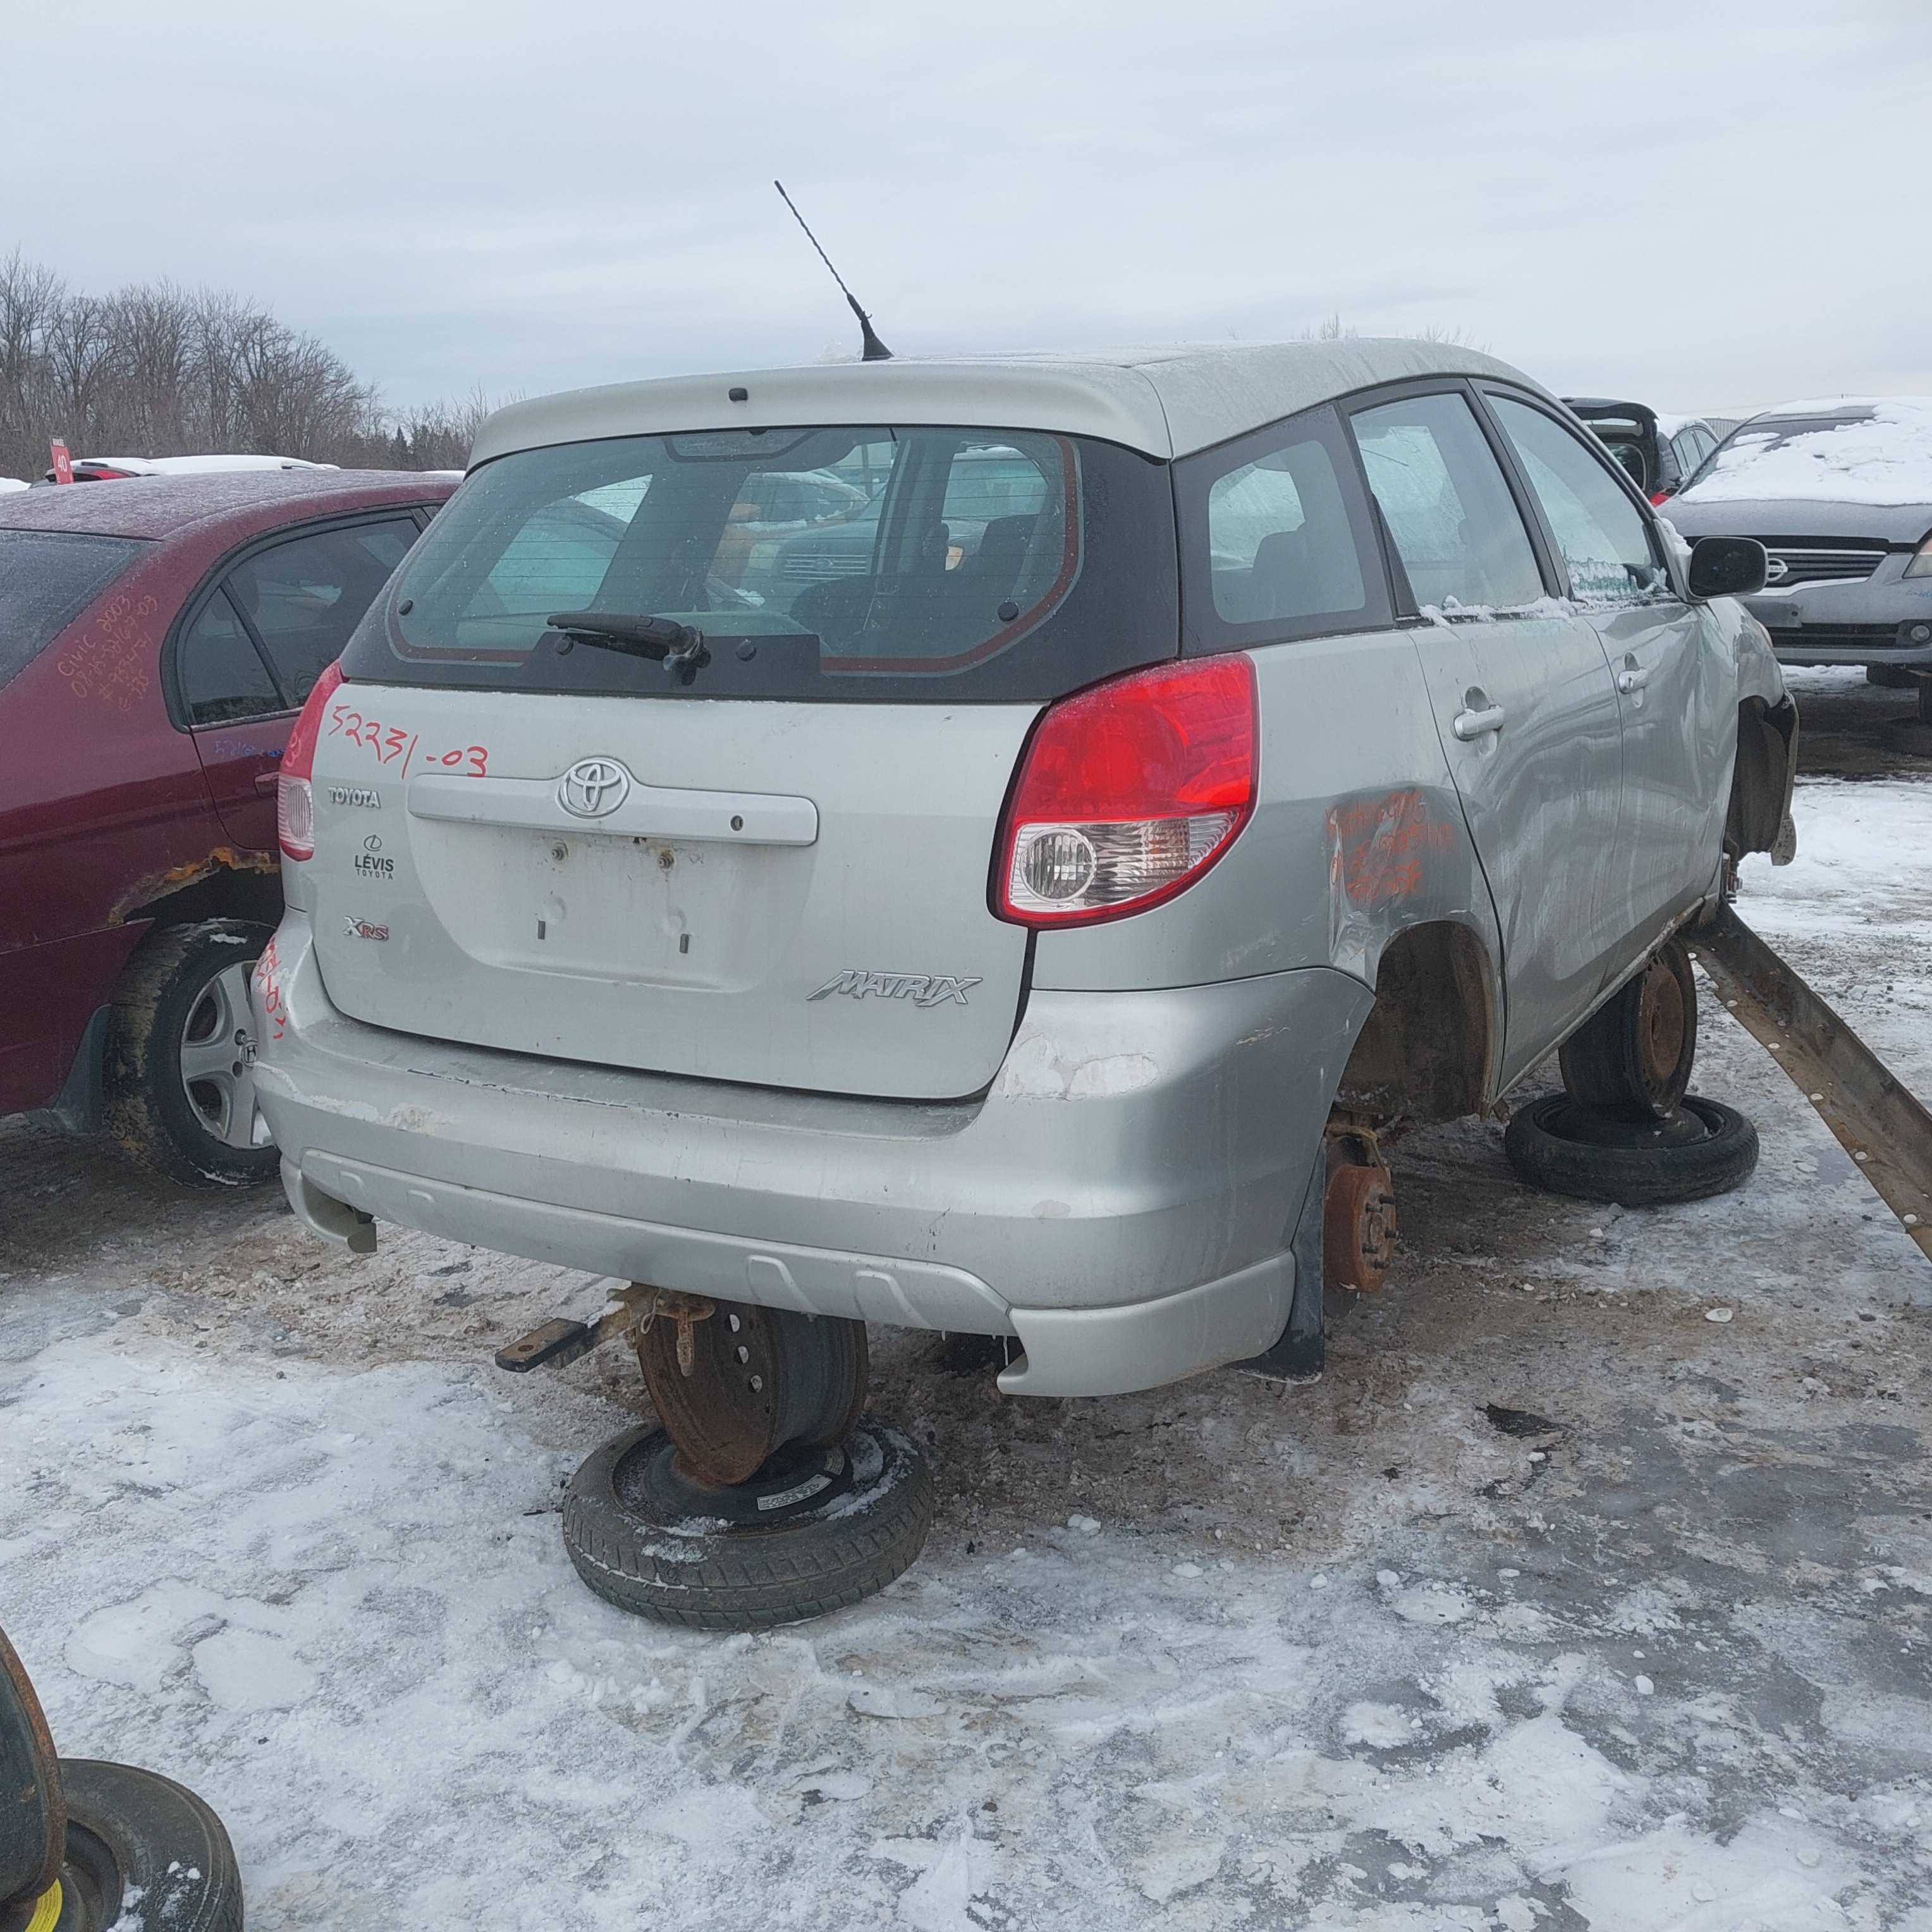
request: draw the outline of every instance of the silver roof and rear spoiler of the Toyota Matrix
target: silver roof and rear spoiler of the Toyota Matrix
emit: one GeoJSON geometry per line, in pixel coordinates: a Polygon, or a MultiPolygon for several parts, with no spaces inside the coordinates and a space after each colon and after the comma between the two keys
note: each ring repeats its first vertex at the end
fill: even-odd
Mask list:
{"type": "Polygon", "coordinates": [[[1092,355],[895,357],[537,396],[491,415],[469,462],[599,437],[811,423],[1036,429],[1165,458],[1227,442],[1358,388],[1432,375],[1501,377],[1548,394],[1482,350],[1381,336],[1092,355]],[[730,400],[734,388],[746,392],[744,402],[730,400]]]}

